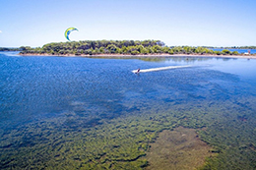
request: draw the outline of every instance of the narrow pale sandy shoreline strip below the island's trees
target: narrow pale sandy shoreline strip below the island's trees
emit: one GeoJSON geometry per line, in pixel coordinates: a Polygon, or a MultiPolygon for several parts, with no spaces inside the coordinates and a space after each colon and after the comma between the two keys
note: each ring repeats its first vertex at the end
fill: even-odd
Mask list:
{"type": "Polygon", "coordinates": [[[256,55],[216,55],[216,54],[96,54],[96,55],[51,55],[51,54],[19,54],[20,56],[58,56],[58,57],[87,57],[87,58],[163,58],[163,57],[207,57],[207,58],[243,58],[243,59],[256,59],[256,55]]]}

